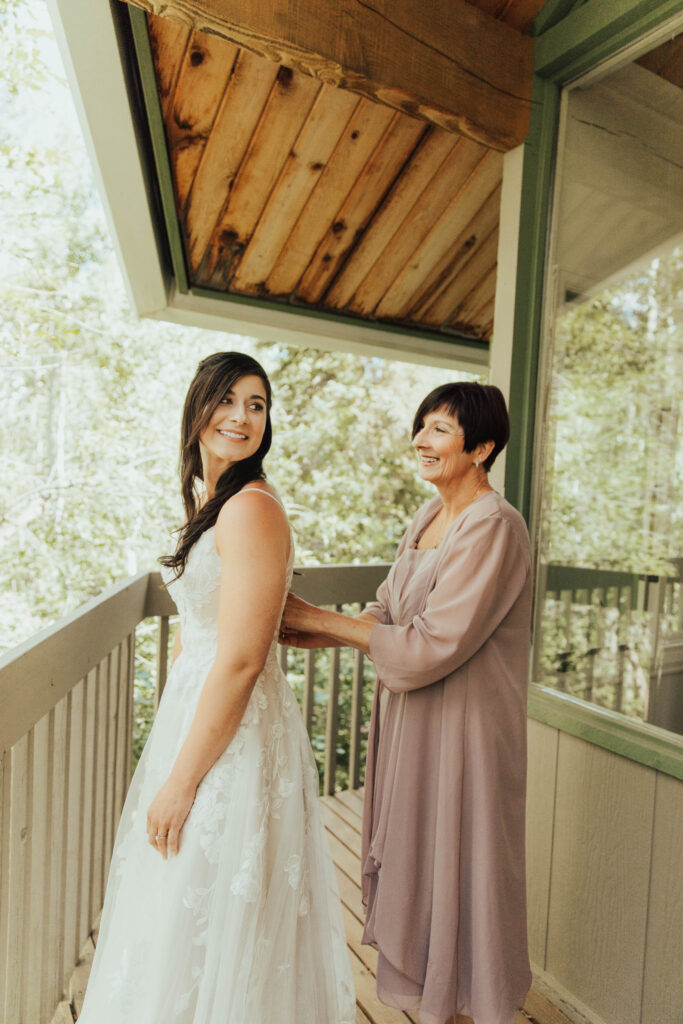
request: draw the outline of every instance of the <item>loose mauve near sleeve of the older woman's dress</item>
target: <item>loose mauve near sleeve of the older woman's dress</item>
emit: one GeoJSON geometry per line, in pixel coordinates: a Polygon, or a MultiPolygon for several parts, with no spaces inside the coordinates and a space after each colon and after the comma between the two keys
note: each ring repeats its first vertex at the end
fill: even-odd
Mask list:
{"type": "Polygon", "coordinates": [[[505,618],[528,570],[527,554],[506,519],[477,519],[457,534],[424,611],[408,626],[373,627],[370,656],[382,684],[400,692],[450,676],[505,618]]]}

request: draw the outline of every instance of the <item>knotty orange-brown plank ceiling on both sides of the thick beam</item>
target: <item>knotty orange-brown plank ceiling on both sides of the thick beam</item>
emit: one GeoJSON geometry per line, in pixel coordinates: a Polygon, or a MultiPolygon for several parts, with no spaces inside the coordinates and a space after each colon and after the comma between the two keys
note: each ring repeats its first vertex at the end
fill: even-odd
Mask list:
{"type": "MultiPolygon", "coordinates": [[[[473,6],[528,32],[543,0],[473,6]]],[[[502,154],[147,14],[190,287],[487,341],[502,154]]]]}

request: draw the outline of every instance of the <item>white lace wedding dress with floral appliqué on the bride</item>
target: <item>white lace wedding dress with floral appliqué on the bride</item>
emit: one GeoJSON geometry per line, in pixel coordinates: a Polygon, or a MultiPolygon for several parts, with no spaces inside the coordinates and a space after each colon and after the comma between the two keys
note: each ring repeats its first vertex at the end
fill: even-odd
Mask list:
{"type": "MultiPolygon", "coordinates": [[[[293,554],[288,589],[292,564],[293,554]]],[[[147,843],[147,808],[215,655],[220,569],[212,528],[169,587],[182,652],[126,799],[79,1024],[355,1020],[317,772],[276,633],[234,738],[198,788],[179,854],[164,860],[147,843]]]]}

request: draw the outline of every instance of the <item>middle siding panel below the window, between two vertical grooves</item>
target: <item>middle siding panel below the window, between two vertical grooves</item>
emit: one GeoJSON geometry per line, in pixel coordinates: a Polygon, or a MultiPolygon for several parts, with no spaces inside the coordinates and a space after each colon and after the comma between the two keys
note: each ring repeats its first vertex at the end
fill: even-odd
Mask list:
{"type": "Polygon", "coordinates": [[[561,733],[546,970],[639,1024],[655,772],[561,733]]]}

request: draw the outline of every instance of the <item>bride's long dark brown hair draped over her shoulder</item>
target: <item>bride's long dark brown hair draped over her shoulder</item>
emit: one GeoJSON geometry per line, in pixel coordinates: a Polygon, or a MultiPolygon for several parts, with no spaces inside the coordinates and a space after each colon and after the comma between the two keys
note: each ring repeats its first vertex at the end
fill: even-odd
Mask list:
{"type": "Polygon", "coordinates": [[[270,382],[265,370],[251,355],[242,352],[215,352],[202,359],[193,378],[182,411],[180,433],[180,488],[185,509],[185,523],[178,531],[178,543],[172,555],[160,558],[162,565],[181,577],[187,556],[202,534],[210,529],[221,508],[232,495],[237,495],[250,480],[264,480],[263,459],[270,447],[270,382]],[[204,479],[200,434],[209,425],[221,400],[243,377],[260,377],[265,388],[265,429],[256,452],[234,462],[218,477],[216,493],[206,504],[200,505],[200,480],[204,479]]]}

